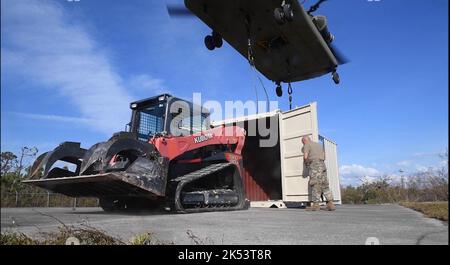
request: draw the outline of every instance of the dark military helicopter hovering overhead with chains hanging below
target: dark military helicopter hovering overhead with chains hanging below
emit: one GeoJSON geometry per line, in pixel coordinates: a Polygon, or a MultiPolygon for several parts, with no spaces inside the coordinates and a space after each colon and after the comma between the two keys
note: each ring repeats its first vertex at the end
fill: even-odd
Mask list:
{"type": "Polygon", "coordinates": [[[184,0],[167,6],[170,16],[196,16],[209,28],[204,43],[213,51],[228,42],[283,95],[282,83],[298,82],[331,73],[339,84],[337,67],[347,62],[332,45],[327,18],[314,16],[319,0],[307,11],[297,0],[184,0]]]}

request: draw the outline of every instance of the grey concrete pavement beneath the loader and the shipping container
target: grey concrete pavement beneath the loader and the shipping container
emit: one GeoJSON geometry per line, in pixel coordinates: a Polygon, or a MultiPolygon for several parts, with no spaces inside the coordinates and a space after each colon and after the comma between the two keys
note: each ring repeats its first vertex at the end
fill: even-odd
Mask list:
{"type": "Polygon", "coordinates": [[[152,232],[164,242],[194,244],[448,244],[448,223],[398,205],[341,205],[335,212],[251,208],[199,214],[105,213],[100,208],[2,208],[1,230],[27,235],[87,223],[128,241],[152,232]],[[190,233],[190,232],[189,232],[190,233]]]}

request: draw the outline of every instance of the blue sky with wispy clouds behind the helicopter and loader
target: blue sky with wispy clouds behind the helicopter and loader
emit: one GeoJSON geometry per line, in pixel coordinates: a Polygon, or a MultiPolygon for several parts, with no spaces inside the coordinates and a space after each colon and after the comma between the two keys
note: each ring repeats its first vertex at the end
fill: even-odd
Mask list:
{"type": "MultiPolygon", "coordinates": [[[[448,1],[335,0],[319,13],[351,62],[339,68],[340,85],[328,75],[295,83],[293,98],[317,101],[319,130],[338,143],[342,182],[441,165],[448,1]]],[[[66,140],[89,147],[124,128],[130,101],[160,92],[254,100],[248,63],[226,43],[208,51],[210,32],[198,19],[169,18],[164,1],[2,0],[2,151],[66,140]]]]}

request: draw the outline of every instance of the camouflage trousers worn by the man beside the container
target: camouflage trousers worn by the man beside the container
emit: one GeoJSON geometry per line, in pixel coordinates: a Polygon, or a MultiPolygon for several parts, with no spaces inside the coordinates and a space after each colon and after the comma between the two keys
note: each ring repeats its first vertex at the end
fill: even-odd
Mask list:
{"type": "Polygon", "coordinates": [[[327,168],[323,160],[311,161],[308,169],[312,201],[316,203],[320,202],[322,194],[325,197],[325,201],[333,201],[333,195],[328,184],[327,168]]]}

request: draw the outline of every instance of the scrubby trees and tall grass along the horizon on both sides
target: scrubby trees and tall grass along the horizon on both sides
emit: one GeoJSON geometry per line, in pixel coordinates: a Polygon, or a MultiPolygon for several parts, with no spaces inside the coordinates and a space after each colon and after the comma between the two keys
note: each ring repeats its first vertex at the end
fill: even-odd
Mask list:
{"type": "MultiPolygon", "coordinates": [[[[45,190],[22,183],[31,165],[26,161],[36,157],[36,147],[22,147],[20,154],[1,152],[1,193],[42,193],[45,190]]],[[[430,168],[402,176],[400,180],[379,176],[371,181],[361,179],[359,186],[341,188],[343,203],[396,203],[403,201],[448,201],[448,150],[441,155],[446,163],[441,168],[430,168]]],[[[2,203],[3,205],[3,203],[2,203]]]]}

